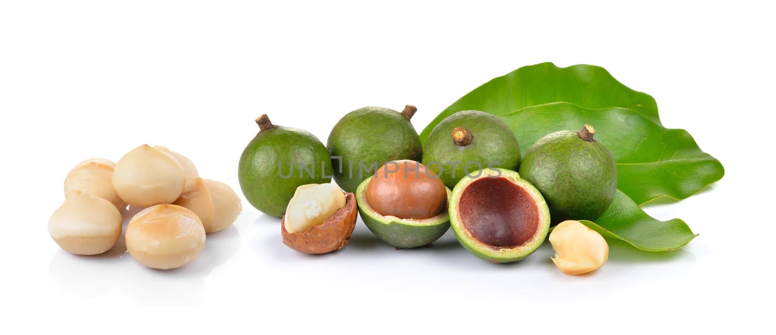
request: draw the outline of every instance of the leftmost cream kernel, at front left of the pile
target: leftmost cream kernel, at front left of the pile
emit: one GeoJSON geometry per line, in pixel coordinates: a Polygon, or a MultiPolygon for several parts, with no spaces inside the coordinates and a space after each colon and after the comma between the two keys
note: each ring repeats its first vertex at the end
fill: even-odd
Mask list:
{"type": "Polygon", "coordinates": [[[71,254],[102,254],[119,240],[121,213],[106,199],[74,191],[51,215],[48,230],[51,238],[71,254]]]}

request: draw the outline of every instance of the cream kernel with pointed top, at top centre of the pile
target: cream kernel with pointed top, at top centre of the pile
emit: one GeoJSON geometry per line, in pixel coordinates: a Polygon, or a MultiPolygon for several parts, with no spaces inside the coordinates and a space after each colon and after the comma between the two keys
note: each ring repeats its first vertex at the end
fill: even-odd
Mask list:
{"type": "Polygon", "coordinates": [[[147,144],[126,153],[113,171],[116,194],[137,207],[175,202],[184,185],[183,169],[175,157],[147,144]]]}

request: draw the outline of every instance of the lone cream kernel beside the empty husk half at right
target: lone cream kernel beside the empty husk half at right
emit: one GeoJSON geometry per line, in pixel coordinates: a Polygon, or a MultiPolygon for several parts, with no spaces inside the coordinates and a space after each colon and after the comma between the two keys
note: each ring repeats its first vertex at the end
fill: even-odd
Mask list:
{"type": "Polygon", "coordinates": [[[549,234],[549,243],[555,249],[553,262],[566,275],[594,271],[609,258],[609,245],[604,237],[579,221],[559,223],[549,234]]]}

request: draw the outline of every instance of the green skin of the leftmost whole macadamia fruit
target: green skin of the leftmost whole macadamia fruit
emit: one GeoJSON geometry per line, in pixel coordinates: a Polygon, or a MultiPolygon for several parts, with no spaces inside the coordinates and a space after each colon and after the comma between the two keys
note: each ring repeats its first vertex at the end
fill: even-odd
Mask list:
{"type": "Polygon", "coordinates": [[[267,215],[281,217],[297,187],[331,182],[332,171],[328,150],[316,136],[305,130],[272,126],[256,134],[243,150],[238,178],[251,205],[267,215]],[[293,174],[281,178],[281,173],[289,175],[292,163],[293,174]],[[307,169],[302,171],[301,164],[306,164],[307,169]],[[310,171],[314,178],[310,178],[310,171]]]}

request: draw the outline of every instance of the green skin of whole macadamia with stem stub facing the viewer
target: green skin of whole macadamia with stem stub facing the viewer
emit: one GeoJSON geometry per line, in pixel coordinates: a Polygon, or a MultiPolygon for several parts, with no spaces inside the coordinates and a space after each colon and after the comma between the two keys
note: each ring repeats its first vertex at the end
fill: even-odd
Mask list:
{"type": "Polygon", "coordinates": [[[423,164],[442,178],[448,188],[456,187],[466,175],[467,164],[472,175],[485,167],[517,170],[520,166],[517,137],[501,119],[487,112],[462,111],[448,116],[431,131],[423,149],[423,164]],[[452,140],[456,127],[472,133],[469,145],[459,147],[452,140]]]}

